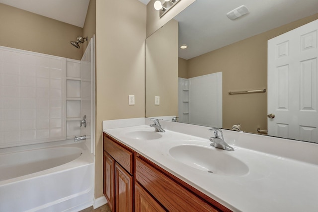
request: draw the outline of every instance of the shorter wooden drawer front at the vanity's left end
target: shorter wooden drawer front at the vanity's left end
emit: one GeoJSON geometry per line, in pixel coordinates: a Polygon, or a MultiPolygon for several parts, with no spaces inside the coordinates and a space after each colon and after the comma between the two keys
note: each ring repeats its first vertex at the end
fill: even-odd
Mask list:
{"type": "Polygon", "coordinates": [[[122,147],[113,138],[104,135],[104,150],[115,159],[127,172],[133,175],[133,152],[122,147]]]}

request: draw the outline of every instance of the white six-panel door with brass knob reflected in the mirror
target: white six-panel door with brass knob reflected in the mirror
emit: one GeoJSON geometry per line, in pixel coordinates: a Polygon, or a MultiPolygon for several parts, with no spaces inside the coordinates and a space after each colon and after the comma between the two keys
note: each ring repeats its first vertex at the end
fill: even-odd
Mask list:
{"type": "Polygon", "coordinates": [[[268,135],[318,142],[318,20],[268,41],[268,135]]]}

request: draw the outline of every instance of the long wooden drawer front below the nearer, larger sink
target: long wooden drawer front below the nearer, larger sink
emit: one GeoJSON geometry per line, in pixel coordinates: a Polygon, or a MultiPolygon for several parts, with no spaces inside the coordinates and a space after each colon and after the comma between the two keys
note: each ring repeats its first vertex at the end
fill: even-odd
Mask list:
{"type": "Polygon", "coordinates": [[[139,157],[136,157],[135,176],[136,180],[170,212],[219,211],[139,157]]]}

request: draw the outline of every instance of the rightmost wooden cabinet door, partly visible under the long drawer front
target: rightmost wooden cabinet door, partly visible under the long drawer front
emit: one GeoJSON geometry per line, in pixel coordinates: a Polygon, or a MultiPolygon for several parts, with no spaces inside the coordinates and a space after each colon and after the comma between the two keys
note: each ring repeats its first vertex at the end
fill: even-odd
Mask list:
{"type": "Polygon", "coordinates": [[[136,182],[135,212],[166,212],[166,210],[136,182]]]}

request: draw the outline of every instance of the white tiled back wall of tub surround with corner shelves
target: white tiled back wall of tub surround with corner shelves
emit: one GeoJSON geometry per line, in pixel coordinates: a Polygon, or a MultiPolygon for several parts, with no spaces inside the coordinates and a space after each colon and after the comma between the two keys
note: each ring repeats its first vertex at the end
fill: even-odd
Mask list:
{"type": "Polygon", "coordinates": [[[0,148],[74,137],[79,119],[80,61],[0,47],[0,148]]]}

